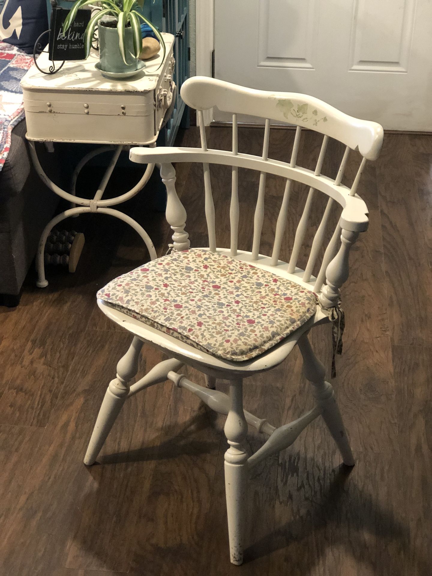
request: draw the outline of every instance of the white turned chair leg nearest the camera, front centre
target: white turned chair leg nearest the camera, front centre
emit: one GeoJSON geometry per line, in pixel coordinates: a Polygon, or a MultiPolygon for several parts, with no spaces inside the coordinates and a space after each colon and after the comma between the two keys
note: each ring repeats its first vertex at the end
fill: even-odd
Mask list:
{"type": "Polygon", "coordinates": [[[248,453],[244,448],[248,424],[243,411],[241,378],[230,382],[229,396],[230,408],[223,429],[229,444],[225,452],[226,509],[231,562],[240,566],[243,562],[248,483],[248,453]]]}

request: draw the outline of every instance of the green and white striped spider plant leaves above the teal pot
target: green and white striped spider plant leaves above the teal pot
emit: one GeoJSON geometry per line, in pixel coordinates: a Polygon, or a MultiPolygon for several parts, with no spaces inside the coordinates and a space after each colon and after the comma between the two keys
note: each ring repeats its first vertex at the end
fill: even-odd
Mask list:
{"type": "MultiPolygon", "coordinates": [[[[94,6],[95,0],[77,0],[73,7],[71,8],[69,14],[67,15],[65,22],[63,23],[63,32],[66,32],[72,22],[77,16],[77,12],[80,8],[92,4],[94,6]]],[[[139,58],[142,50],[142,35],[141,26],[139,24],[139,19],[143,20],[150,28],[153,30],[157,39],[160,41],[164,55],[162,57],[162,62],[165,58],[165,42],[162,38],[161,33],[158,31],[153,24],[147,18],[145,18],[140,12],[138,12],[137,7],[142,8],[145,0],[100,0],[98,2],[97,10],[92,14],[90,22],[85,29],[84,33],[84,44],[86,56],[89,55],[90,47],[92,46],[92,38],[94,28],[96,24],[104,18],[104,16],[114,16],[117,19],[117,31],[119,34],[119,48],[120,54],[122,55],[123,62],[128,65],[126,44],[124,41],[124,29],[128,24],[130,24],[133,37],[134,37],[134,53],[130,52],[132,58],[139,58]]],[[[101,22],[103,24],[103,22],[101,22]]]]}

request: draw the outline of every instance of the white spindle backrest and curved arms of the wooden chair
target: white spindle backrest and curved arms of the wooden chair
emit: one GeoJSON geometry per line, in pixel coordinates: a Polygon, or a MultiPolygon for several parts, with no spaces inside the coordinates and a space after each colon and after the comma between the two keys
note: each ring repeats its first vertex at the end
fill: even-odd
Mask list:
{"type": "Polygon", "coordinates": [[[367,207],[356,194],[362,170],[366,160],[375,160],[380,153],[383,130],[380,124],[359,120],[348,116],[323,101],[304,94],[264,92],[243,88],[214,78],[194,77],[188,79],[181,88],[181,97],[190,107],[198,112],[201,148],[156,148],[132,149],[131,160],[136,162],[160,162],[161,175],[168,191],[166,218],[174,230],[173,241],[176,249],[188,247],[187,234],[184,232],[185,212],[175,193],[175,172],[171,162],[202,162],[204,170],[205,213],[209,232],[209,249],[216,250],[215,210],[210,181],[210,164],[232,166],[232,195],[230,202],[230,255],[237,256],[238,242],[238,168],[249,168],[260,172],[257,203],[253,219],[252,261],[259,258],[260,240],[264,222],[264,193],[266,176],[272,174],[286,179],[285,191],[279,210],[271,264],[279,262],[279,252],[285,232],[291,185],[293,181],[309,186],[308,197],[295,232],[287,271],[292,274],[305,239],[312,200],[316,190],[328,196],[320,225],[314,236],[308,262],[302,281],[311,283],[312,270],[323,245],[326,229],[329,225],[332,206],[335,202],[342,206],[342,214],[331,240],[325,249],[320,271],[311,287],[320,294],[321,304],[325,307],[335,306],[339,301],[339,287],[348,276],[348,252],[357,239],[359,232],[367,229],[367,207]],[[223,112],[233,114],[232,150],[211,150],[207,147],[203,111],[217,107],[223,112]],[[237,113],[246,113],[265,119],[264,142],[261,156],[252,156],[238,152],[237,113]],[[270,122],[276,120],[294,124],[295,138],[289,162],[268,158],[270,122]],[[296,164],[302,127],[323,134],[323,142],[316,168],[309,170],[296,164]],[[335,179],[321,175],[325,151],[329,138],[342,142],[346,149],[335,179]],[[362,155],[357,175],[351,188],[342,184],[342,177],[348,161],[350,150],[358,150],[362,155]],[[182,211],[183,210],[183,211],[182,211]],[[183,219],[183,222],[181,220],[183,219]],[[341,230],[342,229],[342,230],[341,230]],[[185,234],[185,236],[184,236],[185,234]],[[338,251],[339,238],[342,244],[338,251]],[[323,288],[324,281],[326,286],[323,288]],[[322,289],[322,290],[321,290],[322,289]]]}

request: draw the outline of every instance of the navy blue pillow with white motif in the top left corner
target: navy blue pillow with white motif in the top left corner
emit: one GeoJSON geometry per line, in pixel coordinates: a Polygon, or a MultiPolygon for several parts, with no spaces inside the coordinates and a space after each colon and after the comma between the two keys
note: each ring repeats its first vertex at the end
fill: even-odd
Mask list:
{"type": "Polygon", "coordinates": [[[47,29],[46,0],[0,0],[0,40],[31,54],[47,29]]]}

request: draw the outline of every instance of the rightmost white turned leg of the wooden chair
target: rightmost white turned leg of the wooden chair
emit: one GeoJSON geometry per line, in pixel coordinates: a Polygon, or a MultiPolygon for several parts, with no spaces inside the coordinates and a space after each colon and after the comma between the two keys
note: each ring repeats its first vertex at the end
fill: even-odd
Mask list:
{"type": "Polygon", "coordinates": [[[318,406],[323,410],[324,422],[338,445],[343,463],[347,466],[354,466],[353,452],[351,452],[350,442],[336,403],[333,387],[324,380],[324,366],[314,355],[308,336],[303,335],[298,340],[298,347],[303,357],[303,372],[307,380],[313,384],[313,396],[318,406]]]}

